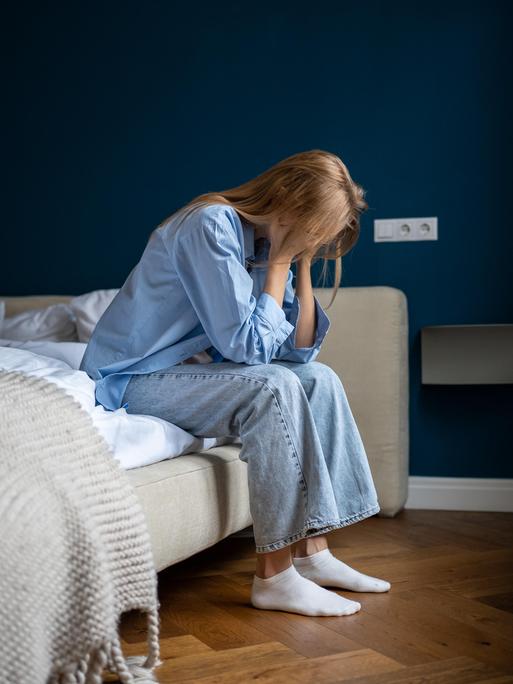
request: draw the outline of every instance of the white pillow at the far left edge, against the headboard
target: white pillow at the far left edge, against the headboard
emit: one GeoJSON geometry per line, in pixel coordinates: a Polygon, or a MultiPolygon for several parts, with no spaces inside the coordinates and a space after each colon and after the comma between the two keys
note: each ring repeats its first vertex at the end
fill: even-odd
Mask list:
{"type": "Polygon", "coordinates": [[[3,319],[0,323],[0,337],[20,341],[76,342],[75,315],[65,303],[22,311],[3,319]]]}

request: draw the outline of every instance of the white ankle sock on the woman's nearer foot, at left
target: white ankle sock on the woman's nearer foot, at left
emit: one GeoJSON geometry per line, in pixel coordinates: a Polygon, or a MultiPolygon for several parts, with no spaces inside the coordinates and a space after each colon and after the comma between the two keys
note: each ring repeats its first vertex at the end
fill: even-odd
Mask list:
{"type": "Polygon", "coordinates": [[[253,577],[251,603],[255,608],[285,610],[301,615],[351,615],[360,610],[350,601],[302,577],[294,565],[272,577],[253,577]]]}

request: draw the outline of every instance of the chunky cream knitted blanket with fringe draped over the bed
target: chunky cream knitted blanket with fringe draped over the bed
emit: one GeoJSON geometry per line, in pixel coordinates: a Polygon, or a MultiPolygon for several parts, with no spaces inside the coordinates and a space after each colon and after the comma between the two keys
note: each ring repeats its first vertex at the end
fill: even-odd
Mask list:
{"type": "Polygon", "coordinates": [[[90,416],[44,378],[0,371],[0,682],[156,681],[157,579],[142,508],[90,416]],[[120,615],[147,614],[125,658],[120,615]]]}

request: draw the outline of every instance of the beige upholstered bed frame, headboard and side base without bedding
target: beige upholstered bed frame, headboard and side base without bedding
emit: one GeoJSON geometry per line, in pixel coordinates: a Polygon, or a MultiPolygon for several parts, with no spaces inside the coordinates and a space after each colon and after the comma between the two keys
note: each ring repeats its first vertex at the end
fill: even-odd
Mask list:
{"type": "MultiPolygon", "coordinates": [[[[327,306],[330,289],[314,289],[327,306]]],[[[79,294],[79,293],[77,293],[79,294]]],[[[2,297],[5,316],[68,302],[72,295],[2,297]]],[[[401,290],[342,287],[318,361],[344,384],[373,473],[380,516],[393,516],[408,487],[408,307],[401,290]]],[[[161,570],[251,525],[246,464],[223,445],[128,471],[146,513],[161,570]]]]}

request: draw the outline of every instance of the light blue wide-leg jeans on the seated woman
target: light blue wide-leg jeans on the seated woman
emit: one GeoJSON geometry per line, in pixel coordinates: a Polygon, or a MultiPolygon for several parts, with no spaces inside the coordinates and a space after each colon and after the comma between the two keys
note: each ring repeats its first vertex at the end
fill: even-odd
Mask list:
{"type": "Polygon", "coordinates": [[[133,375],[125,402],[197,437],[240,439],[257,553],[380,510],[344,387],[324,363],[179,364],[133,375]]]}

